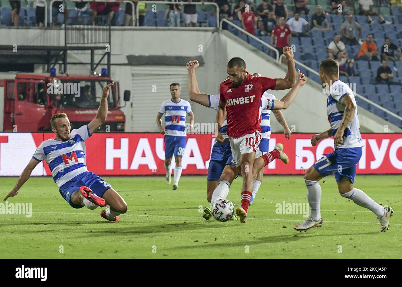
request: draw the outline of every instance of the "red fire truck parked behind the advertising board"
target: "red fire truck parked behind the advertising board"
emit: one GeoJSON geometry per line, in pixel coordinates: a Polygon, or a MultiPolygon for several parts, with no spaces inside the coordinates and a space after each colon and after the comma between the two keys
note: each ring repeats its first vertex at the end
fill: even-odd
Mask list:
{"type": "MultiPolygon", "coordinates": [[[[21,73],[15,79],[0,80],[4,88],[4,132],[49,131],[50,118],[65,112],[71,128],[90,122],[98,110],[102,89],[113,79],[104,74],[69,75],[49,73],[21,73]]],[[[124,101],[130,91],[124,91],[124,101]]],[[[124,132],[125,114],[120,110],[119,82],[108,98],[108,116],[100,131],[124,132]]],[[[0,125],[1,128],[1,125],[0,125]]],[[[1,129],[0,129],[1,130],[1,129]]]]}

